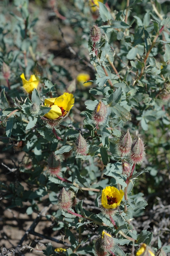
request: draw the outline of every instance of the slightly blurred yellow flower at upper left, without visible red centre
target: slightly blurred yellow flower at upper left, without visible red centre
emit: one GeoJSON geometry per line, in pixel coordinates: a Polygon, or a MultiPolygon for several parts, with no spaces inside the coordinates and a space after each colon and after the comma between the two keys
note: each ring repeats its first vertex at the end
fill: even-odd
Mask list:
{"type": "Polygon", "coordinates": [[[31,94],[34,88],[37,89],[39,80],[36,79],[35,75],[31,75],[28,81],[25,79],[24,73],[20,75],[20,78],[22,79],[23,88],[27,93],[31,94]]]}

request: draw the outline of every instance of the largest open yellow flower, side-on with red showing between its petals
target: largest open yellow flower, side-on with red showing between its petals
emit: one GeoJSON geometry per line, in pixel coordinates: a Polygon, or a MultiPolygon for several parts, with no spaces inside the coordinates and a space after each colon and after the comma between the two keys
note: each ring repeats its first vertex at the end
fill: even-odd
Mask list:
{"type": "Polygon", "coordinates": [[[72,93],[64,92],[58,98],[45,99],[45,106],[50,107],[50,111],[45,116],[50,120],[64,117],[74,105],[72,93]]]}

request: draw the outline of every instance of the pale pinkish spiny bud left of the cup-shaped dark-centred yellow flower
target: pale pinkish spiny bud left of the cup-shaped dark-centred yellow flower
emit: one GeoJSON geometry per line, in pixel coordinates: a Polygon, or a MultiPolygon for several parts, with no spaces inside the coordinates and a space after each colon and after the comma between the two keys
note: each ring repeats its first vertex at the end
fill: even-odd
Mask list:
{"type": "Polygon", "coordinates": [[[70,193],[62,188],[58,195],[58,205],[60,210],[68,212],[73,205],[73,201],[71,200],[70,193]]]}

